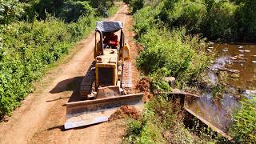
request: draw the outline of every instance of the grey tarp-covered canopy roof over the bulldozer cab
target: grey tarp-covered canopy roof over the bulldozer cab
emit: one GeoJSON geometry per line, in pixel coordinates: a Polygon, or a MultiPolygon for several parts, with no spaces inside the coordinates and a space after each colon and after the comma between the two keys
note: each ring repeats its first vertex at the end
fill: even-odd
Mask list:
{"type": "Polygon", "coordinates": [[[122,30],[123,24],[120,21],[98,21],[96,23],[96,30],[102,33],[117,32],[122,30]]]}

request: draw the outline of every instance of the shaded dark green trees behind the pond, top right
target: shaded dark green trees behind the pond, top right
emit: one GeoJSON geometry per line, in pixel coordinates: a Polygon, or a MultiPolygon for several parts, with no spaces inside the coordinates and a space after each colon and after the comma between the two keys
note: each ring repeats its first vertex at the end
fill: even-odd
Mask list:
{"type": "MultiPolygon", "coordinates": [[[[147,13],[149,15],[145,18],[160,18],[170,29],[186,27],[189,34],[202,34],[211,40],[254,42],[256,38],[256,1],[162,0],[158,6],[146,0],[136,1],[141,3],[134,5],[133,2],[130,2],[130,6],[134,12],[142,9],[142,6],[150,5],[147,10],[151,14],[159,7],[159,3],[162,4],[158,14],[147,13]]],[[[140,13],[146,15],[145,10],[140,13]]]]}

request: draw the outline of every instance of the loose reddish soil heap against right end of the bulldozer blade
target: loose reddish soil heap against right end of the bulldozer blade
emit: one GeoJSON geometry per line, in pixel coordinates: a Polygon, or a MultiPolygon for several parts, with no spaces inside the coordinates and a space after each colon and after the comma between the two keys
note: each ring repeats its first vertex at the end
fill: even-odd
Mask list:
{"type": "Polygon", "coordinates": [[[140,111],[137,110],[134,106],[121,106],[118,110],[114,112],[114,114],[110,116],[109,122],[126,117],[138,119],[140,118],[140,116],[140,111]]]}

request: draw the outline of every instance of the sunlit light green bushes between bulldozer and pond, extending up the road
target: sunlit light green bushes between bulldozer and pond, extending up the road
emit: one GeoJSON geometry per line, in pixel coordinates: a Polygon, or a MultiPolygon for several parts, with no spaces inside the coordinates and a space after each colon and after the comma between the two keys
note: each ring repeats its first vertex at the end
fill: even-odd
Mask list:
{"type": "Polygon", "coordinates": [[[164,68],[165,77],[174,76],[180,86],[184,86],[206,69],[210,57],[204,53],[204,39],[187,35],[184,28],[167,30],[162,26],[158,14],[163,4],[159,2],[154,10],[152,6],[146,6],[134,14],[134,31],[144,46],[137,58],[137,66],[146,75],[164,68]]]}

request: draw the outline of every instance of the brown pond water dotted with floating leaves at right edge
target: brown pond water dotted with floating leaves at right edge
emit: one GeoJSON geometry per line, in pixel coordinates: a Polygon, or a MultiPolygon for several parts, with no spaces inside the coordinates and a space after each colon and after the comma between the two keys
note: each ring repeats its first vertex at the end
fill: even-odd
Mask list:
{"type": "Polygon", "coordinates": [[[231,86],[246,90],[256,87],[256,45],[215,44],[217,58],[226,58],[224,68],[238,70],[238,74],[229,72],[231,86]]]}

